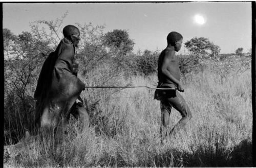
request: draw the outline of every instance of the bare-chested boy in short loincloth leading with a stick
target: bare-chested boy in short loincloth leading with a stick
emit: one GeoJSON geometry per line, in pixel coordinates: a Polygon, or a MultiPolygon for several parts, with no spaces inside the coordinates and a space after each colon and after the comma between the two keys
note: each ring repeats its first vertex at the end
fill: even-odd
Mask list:
{"type": "Polygon", "coordinates": [[[173,90],[156,90],[155,99],[161,101],[161,128],[162,138],[167,135],[167,125],[172,107],[178,110],[182,118],[174,126],[170,134],[175,134],[183,128],[191,119],[192,115],[185,100],[178,91],[183,92],[180,83],[179,58],[175,55],[182,44],[182,35],[177,32],[170,32],[167,36],[167,47],[162,51],[158,59],[158,86],[159,88],[174,88],[173,90]],[[178,91],[177,91],[178,90],[178,91]]]}

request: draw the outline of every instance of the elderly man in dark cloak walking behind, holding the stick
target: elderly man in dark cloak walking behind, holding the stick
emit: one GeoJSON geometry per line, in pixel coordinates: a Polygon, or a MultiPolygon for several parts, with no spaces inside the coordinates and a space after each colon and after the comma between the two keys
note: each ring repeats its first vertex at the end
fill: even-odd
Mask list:
{"type": "Polygon", "coordinates": [[[34,93],[35,124],[53,134],[67,124],[70,113],[76,118],[79,116],[84,126],[89,124],[88,113],[79,98],[85,86],[72,67],[80,32],[77,27],[68,25],[63,28],[63,35],[65,38],[44,62],[34,93]]]}

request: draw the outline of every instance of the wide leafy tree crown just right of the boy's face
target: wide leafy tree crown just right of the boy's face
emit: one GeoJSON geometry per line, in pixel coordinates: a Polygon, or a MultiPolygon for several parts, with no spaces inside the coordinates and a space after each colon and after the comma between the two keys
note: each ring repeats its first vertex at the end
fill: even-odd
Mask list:
{"type": "Polygon", "coordinates": [[[205,37],[194,37],[185,42],[188,51],[199,57],[215,57],[220,53],[220,47],[205,37]]]}

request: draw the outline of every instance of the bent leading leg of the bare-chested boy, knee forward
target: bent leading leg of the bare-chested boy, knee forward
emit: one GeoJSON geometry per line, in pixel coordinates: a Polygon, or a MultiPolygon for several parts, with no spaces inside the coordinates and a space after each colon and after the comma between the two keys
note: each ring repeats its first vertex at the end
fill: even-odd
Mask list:
{"type": "Polygon", "coordinates": [[[186,101],[178,91],[176,91],[176,97],[169,98],[168,102],[182,115],[180,121],[174,126],[172,131],[170,131],[170,134],[175,135],[177,131],[182,129],[186,125],[186,123],[191,119],[192,114],[186,101]]]}

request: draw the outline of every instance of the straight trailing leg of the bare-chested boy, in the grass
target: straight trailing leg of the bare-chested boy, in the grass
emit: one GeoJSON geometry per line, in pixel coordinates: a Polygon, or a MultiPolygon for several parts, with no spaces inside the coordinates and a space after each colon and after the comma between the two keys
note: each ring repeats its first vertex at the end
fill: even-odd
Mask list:
{"type": "Polygon", "coordinates": [[[168,103],[167,100],[161,100],[161,127],[160,134],[162,139],[167,135],[167,126],[169,124],[170,112],[172,110],[172,106],[168,103]]]}

